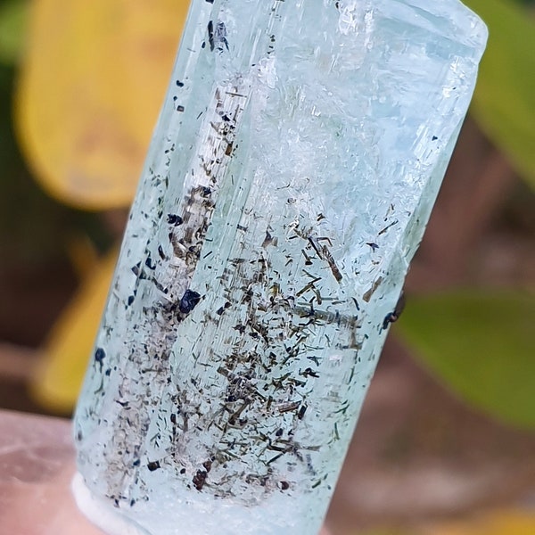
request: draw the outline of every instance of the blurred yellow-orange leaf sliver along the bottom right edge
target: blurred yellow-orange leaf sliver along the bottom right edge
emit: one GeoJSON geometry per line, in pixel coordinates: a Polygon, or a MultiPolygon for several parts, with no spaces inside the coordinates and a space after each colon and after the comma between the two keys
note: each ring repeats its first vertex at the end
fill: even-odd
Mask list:
{"type": "Polygon", "coordinates": [[[504,509],[472,519],[441,523],[424,531],[424,535],[533,535],[535,512],[504,509]]]}

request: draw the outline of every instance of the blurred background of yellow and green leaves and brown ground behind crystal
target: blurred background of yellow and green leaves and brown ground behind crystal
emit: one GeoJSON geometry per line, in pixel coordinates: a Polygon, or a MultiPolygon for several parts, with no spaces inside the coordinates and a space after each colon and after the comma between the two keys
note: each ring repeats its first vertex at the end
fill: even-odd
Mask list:
{"type": "MultiPolygon", "coordinates": [[[[0,408],[70,416],[186,0],[0,0],[0,408]]],[[[535,533],[535,3],[473,105],[338,485],[333,535],[535,533]]]]}

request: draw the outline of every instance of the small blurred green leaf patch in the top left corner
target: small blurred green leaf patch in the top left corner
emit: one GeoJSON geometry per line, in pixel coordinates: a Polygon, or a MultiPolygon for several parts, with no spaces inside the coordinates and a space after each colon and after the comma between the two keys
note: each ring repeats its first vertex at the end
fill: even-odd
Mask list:
{"type": "Polygon", "coordinates": [[[16,63],[24,45],[28,2],[11,0],[0,4],[0,62],[16,63]]]}

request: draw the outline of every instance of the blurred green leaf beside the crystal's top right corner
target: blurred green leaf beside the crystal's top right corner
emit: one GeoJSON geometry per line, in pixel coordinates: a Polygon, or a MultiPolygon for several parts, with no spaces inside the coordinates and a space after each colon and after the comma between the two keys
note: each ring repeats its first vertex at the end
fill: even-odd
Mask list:
{"type": "Polygon", "coordinates": [[[535,21],[507,0],[465,0],[489,27],[472,113],[535,187],[535,21]]]}

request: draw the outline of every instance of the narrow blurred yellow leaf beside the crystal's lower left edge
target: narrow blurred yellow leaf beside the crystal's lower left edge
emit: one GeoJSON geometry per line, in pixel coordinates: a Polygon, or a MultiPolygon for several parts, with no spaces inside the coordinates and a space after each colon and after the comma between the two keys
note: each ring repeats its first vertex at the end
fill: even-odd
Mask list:
{"type": "Polygon", "coordinates": [[[30,392],[37,402],[54,413],[69,414],[78,398],[117,254],[112,251],[98,262],[63,310],[43,349],[30,392]]]}

